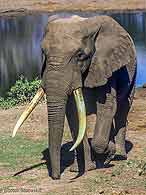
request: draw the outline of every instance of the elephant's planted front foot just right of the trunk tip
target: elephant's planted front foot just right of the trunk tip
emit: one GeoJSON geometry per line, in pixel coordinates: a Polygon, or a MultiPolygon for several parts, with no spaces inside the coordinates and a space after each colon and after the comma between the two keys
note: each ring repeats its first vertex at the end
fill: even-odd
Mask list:
{"type": "MultiPolygon", "coordinates": [[[[81,166],[81,165],[80,165],[81,166]]],[[[83,166],[83,165],[82,165],[83,166]]],[[[87,165],[85,165],[85,168],[81,168],[84,169],[84,171],[91,171],[96,169],[96,164],[94,162],[92,162],[91,160],[87,163],[87,165]]],[[[78,163],[77,161],[75,161],[71,167],[70,167],[70,171],[71,172],[79,172],[79,167],[78,167],[78,163]]]]}

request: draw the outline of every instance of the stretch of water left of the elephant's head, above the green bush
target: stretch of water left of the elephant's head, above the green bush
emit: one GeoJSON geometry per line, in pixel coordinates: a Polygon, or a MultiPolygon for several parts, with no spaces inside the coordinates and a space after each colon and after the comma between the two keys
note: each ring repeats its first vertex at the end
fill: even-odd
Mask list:
{"type": "Polygon", "coordinates": [[[0,95],[21,75],[40,77],[40,43],[47,20],[47,15],[0,19],[0,95]]]}

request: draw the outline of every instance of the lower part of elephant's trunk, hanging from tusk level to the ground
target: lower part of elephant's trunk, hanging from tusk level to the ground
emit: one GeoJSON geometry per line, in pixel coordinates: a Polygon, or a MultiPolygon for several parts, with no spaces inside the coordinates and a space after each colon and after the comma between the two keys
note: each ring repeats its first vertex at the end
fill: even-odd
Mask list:
{"type": "Polygon", "coordinates": [[[60,149],[63,137],[66,101],[48,101],[49,157],[51,177],[60,178],[60,149]]]}

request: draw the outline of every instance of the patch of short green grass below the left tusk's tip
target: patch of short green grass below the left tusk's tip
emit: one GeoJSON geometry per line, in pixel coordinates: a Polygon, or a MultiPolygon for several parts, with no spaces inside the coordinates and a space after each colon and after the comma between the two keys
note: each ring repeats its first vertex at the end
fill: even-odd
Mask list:
{"type": "Polygon", "coordinates": [[[8,135],[0,135],[0,137],[0,166],[12,170],[26,168],[40,161],[41,152],[47,147],[45,141],[34,141],[21,135],[15,138],[8,135]]]}

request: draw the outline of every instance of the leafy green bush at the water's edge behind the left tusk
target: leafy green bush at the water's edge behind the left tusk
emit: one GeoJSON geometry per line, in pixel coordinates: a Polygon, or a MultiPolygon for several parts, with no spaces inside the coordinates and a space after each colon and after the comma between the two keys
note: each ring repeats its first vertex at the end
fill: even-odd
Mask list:
{"type": "Polygon", "coordinates": [[[21,76],[20,79],[16,81],[15,85],[11,87],[10,91],[7,92],[6,97],[0,97],[0,107],[2,109],[8,109],[16,105],[30,102],[40,84],[41,80],[38,78],[33,81],[28,81],[21,76]]]}

